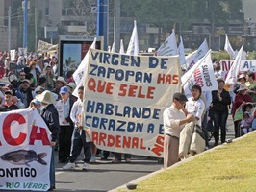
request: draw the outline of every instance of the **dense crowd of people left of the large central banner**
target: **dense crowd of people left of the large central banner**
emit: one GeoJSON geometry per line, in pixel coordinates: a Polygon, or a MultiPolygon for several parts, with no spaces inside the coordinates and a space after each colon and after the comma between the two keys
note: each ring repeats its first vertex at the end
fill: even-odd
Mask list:
{"type": "MultiPolygon", "coordinates": [[[[0,65],[5,66],[3,76],[8,77],[10,63],[7,53],[0,54],[0,65]]],[[[99,152],[90,141],[89,132],[82,126],[81,111],[83,105],[84,87],[78,87],[78,97],[72,95],[76,84],[72,71],[66,78],[58,76],[57,55],[38,56],[30,54],[27,58],[17,57],[15,71],[17,79],[0,83],[0,112],[21,108],[38,110],[51,131],[51,146],[58,151],[58,162],[64,163],[63,169],[76,168],[76,160],[83,149],[83,170],[89,169],[89,163],[96,161],[99,152]]],[[[101,159],[108,159],[110,152],[104,151],[101,159]]],[[[131,155],[124,156],[126,162],[131,161],[131,155]]],[[[116,153],[113,163],[121,162],[121,154],[116,153]]],[[[54,156],[51,159],[50,182],[55,188],[54,156]]]]}

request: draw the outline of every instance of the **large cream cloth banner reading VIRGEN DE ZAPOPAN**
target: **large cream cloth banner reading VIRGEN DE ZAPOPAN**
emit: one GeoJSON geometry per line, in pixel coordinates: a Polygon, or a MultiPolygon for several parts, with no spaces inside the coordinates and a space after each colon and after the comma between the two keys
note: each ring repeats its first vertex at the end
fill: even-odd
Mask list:
{"type": "Polygon", "coordinates": [[[163,156],[163,111],[181,88],[179,57],[90,50],[85,125],[103,150],[163,156]]]}

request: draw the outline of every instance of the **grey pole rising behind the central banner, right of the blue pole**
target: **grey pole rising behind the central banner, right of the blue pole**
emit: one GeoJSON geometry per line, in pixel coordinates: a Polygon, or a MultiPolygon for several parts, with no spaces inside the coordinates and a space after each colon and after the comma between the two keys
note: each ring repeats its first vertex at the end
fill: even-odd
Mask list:
{"type": "Polygon", "coordinates": [[[115,52],[118,53],[120,49],[120,0],[115,0],[115,15],[114,15],[114,42],[115,52]]]}

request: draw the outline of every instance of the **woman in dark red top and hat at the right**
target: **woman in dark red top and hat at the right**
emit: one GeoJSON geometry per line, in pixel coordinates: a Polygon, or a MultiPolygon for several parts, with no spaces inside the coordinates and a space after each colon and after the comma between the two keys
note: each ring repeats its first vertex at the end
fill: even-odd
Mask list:
{"type": "MultiPolygon", "coordinates": [[[[252,102],[251,97],[247,94],[248,88],[245,84],[241,84],[240,88],[238,89],[238,94],[236,94],[234,103],[233,103],[233,111],[232,111],[232,117],[234,119],[236,110],[242,105],[247,102],[252,102]]],[[[234,128],[235,128],[235,138],[239,137],[241,132],[239,129],[240,121],[234,121],[234,128]]]]}

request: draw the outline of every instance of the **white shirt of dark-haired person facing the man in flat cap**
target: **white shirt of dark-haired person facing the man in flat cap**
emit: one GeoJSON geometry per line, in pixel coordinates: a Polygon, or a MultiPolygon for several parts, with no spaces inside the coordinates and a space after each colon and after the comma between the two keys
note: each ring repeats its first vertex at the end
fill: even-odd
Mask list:
{"type": "Polygon", "coordinates": [[[192,97],[188,99],[188,102],[186,102],[187,111],[192,114],[194,117],[199,118],[197,120],[197,125],[202,126],[202,114],[205,109],[205,104],[202,99],[198,99],[196,101],[193,101],[192,97]]]}

